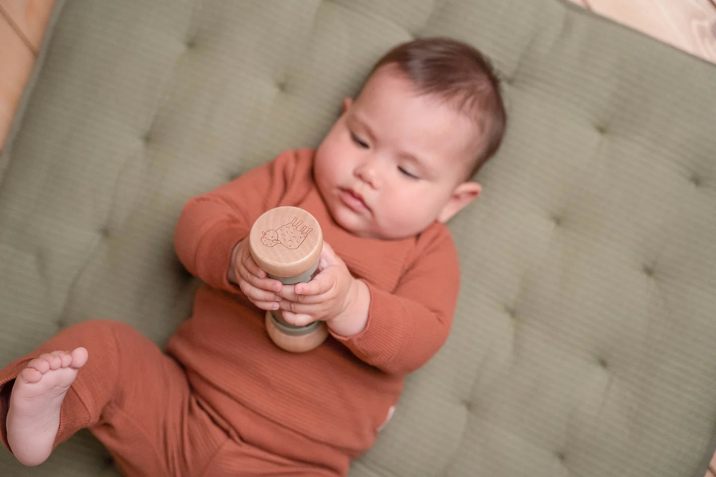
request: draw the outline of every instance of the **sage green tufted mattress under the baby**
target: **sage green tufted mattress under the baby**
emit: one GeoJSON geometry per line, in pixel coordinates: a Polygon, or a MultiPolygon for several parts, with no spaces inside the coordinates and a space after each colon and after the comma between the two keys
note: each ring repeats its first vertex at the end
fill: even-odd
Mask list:
{"type": "MultiPolygon", "coordinates": [[[[511,123],[450,223],[453,333],[352,477],[702,477],[716,423],[716,66],[557,0],[58,1],[0,157],[0,364],[89,318],[162,344],[193,195],[315,147],[390,46],[488,54],[511,123]]],[[[115,476],[77,434],[38,468],[115,476]]]]}

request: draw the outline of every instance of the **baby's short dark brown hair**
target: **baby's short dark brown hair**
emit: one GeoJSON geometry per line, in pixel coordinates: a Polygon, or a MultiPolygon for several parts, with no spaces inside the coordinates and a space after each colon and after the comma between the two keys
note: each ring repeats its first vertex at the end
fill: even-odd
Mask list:
{"type": "Polygon", "coordinates": [[[387,64],[407,74],[420,93],[443,97],[475,121],[483,144],[475,154],[469,180],[497,152],[507,124],[500,80],[489,60],[461,41],[432,37],[395,46],[368,77],[387,64]]]}

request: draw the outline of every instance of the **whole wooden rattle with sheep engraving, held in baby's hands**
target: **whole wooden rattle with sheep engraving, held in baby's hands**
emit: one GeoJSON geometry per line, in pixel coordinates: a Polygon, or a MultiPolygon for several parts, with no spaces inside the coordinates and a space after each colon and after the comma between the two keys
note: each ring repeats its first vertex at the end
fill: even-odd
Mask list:
{"type": "MultiPolygon", "coordinates": [[[[323,232],[315,217],[299,207],[276,207],[263,212],[248,234],[251,256],[269,278],[284,285],[308,282],[318,268],[323,232]]],[[[266,331],[286,351],[303,353],[326,340],[323,321],[305,326],[286,323],[281,310],[266,311],[266,331]]]]}

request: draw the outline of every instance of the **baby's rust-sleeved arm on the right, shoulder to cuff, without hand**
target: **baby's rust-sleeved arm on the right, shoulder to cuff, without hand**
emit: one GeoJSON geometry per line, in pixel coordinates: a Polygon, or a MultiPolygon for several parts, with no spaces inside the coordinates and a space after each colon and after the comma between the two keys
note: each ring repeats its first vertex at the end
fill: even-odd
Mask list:
{"type": "Polygon", "coordinates": [[[407,374],[445,343],[460,288],[455,245],[447,231],[433,237],[394,292],[364,282],[369,292],[365,328],[332,335],[354,355],[386,373],[407,374]]]}

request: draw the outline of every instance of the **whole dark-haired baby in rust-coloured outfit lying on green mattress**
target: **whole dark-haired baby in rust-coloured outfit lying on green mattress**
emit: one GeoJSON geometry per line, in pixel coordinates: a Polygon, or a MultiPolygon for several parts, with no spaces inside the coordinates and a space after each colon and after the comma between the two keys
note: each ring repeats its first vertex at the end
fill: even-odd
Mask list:
{"type": "Polygon", "coordinates": [[[452,39],[379,60],[316,150],[189,200],[175,232],[205,285],[166,353],[130,326],[89,320],[0,371],[0,438],[27,466],[80,428],[127,476],[344,476],[390,420],[407,373],[445,343],[458,257],[445,227],[480,195],[473,175],[505,129],[498,80],[452,39]],[[321,225],[318,274],[266,276],[248,232],[293,205],[321,225]],[[263,310],[324,320],[308,353],[277,348],[263,310]]]}

